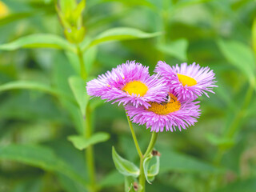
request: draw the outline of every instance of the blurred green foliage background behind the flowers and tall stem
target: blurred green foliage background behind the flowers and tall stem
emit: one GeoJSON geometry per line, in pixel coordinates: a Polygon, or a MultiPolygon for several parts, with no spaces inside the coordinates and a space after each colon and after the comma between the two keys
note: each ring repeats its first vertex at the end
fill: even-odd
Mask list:
{"type": "MultiPolygon", "coordinates": [[[[1,46],[30,34],[65,38],[55,5],[51,0],[0,2],[1,192],[86,191],[73,174],[88,179],[84,154],[67,139],[81,132],[78,105],[68,99],[74,99],[68,79],[80,74],[77,58],[43,43],[26,49],[1,46]]],[[[84,42],[116,27],[162,32],[92,46],[84,54],[90,78],[126,60],[150,66],[151,74],[159,60],[197,62],[216,74],[216,94],[200,98],[202,115],[195,126],[159,134],[160,173],[146,191],[256,191],[254,0],[87,0],[82,18],[84,42]]],[[[110,134],[94,146],[98,185],[101,191],[123,191],[112,146],[122,157],[139,160],[126,114],[117,104],[90,102],[97,106],[94,131],[110,134]]],[[[145,150],[150,130],[134,129],[145,150]]]]}

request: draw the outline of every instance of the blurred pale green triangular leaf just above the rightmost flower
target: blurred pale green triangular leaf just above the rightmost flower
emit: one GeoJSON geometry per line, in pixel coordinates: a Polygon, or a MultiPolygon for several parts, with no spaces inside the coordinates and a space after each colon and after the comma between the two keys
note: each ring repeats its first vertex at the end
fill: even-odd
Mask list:
{"type": "Polygon", "coordinates": [[[162,51],[164,54],[169,54],[170,56],[174,56],[182,61],[186,61],[188,46],[189,42],[185,38],[182,38],[165,45],[159,45],[158,50],[162,51]]]}

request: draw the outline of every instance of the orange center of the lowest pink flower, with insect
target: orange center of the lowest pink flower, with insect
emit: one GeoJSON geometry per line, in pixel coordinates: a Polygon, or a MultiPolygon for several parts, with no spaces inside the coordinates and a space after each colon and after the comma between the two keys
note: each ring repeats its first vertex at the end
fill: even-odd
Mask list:
{"type": "Polygon", "coordinates": [[[150,102],[150,107],[147,109],[149,111],[154,112],[155,114],[170,114],[174,111],[177,111],[181,108],[181,103],[177,100],[177,98],[173,94],[170,95],[170,102],[150,102]]]}

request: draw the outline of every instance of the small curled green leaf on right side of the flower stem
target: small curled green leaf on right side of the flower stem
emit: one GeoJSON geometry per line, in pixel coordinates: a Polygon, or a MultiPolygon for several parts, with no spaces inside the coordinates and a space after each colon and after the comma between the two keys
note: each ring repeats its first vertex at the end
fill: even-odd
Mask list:
{"type": "Polygon", "coordinates": [[[144,174],[146,177],[146,181],[151,184],[150,181],[154,180],[154,176],[156,176],[159,173],[159,166],[160,166],[160,160],[159,156],[153,156],[150,154],[147,158],[144,159],[143,162],[143,169],[144,169],[144,174]],[[155,157],[157,159],[157,162],[150,166],[150,160],[155,157]],[[149,169],[150,166],[150,169],[149,169]]]}

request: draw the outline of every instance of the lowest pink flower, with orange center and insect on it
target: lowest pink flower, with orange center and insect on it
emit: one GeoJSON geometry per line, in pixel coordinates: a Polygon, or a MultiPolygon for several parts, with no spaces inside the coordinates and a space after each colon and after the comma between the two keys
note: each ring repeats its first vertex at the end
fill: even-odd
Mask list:
{"type": "Polygon", "coordinates": [[[150,102],[150,107],[146,109],[143,106],[127,105],[126,112],[132,122],[139,125],[146,125],[146,129],[151,127],[151,131],[166,131],[173,132],[178,127],[178,130],[186,130],[187,126],[194,126],[197,118],[200,115],[199,102],[191,100],[178,100],[177,95],[169,94],[167,102],[150,102]]]}

